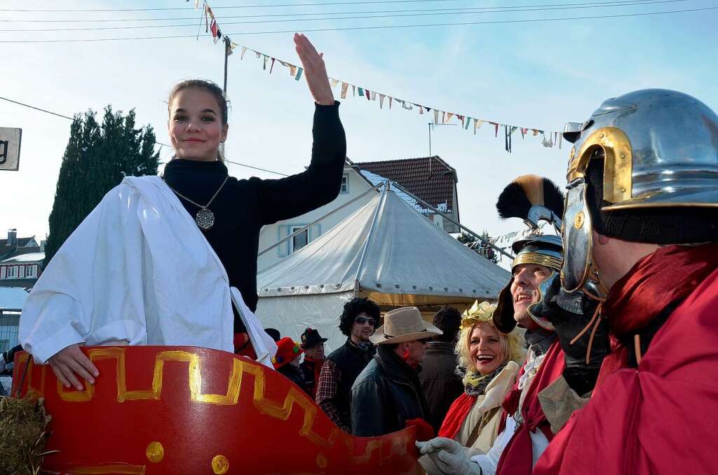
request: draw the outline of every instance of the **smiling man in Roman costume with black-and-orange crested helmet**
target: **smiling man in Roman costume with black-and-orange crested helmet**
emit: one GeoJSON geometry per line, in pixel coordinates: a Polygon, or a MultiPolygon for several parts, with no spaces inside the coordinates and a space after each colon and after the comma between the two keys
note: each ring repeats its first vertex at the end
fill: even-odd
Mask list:
{"type": "MultiPolygon", "coordinates": [[[[578,379],[585,382],[586,366],[574,364],[574,358],[562,348],[564,342],[571,347],[569,340],[577,337],[576,326],[554,326],[552,322],[552,316],[559,314],[583,319],[583,298],[578,294],[559,299],[558,286],[551,284],[556,282],[563,261],[561,237],[538,232],[540,220],[550,222],[556,229],[561,227],[561,192],[549,179],[526,175],[503,190],[497,208],[503,219],[521,217],[531,227],[528,235],[512,245],[516,253],[512,278],[500,292],[493,314],[495,327],[504,334],[517,324],[526,330],[526,361],[503,402],[499,435],[487,453],[475,455],[475,451],[466,451],[447,438],[417,444],[421,453],[432,456],[442,474],[531,474],[533,465],[568,415],[585,403],[580,396],[590,391],[585,385],[574,389],[570,383],[577,379],[576,367],[580,368],[578,379]],[[531,310],[537,308],[544,311],[533,314],[531,310]]],[[[572,347],[573,352],[579,349],[583,357],[586,354],[583,342],[574,343],[577,345],[572,347]]],[[[596,347],[600,349],[601,345],[596,347]]]]}

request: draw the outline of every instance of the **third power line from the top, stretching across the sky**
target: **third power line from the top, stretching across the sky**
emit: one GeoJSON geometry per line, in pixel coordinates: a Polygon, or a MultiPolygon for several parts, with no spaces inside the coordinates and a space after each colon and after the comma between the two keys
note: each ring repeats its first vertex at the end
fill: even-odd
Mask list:
{"type": "MultiPolygon", "coordinates": [[[[624,2],[621,6],[638,6],[650,4],[669,4],[683,2],[688,0],[637,0],[633,2],[624,2]]],[[[613,2],[610,2],[613,3],[613,2]]],[[[561,5],[561,4],[557,4],[561,5]]],[[[589,8],[612,8],[615,4],[585,4],[582,6],[551,6],[547,8],[526,8],[511,10],[495,10],[495,11],[449,11],[437,13],[412,13],[412,14],[396,14],[396,15],[362,15],[353,17],[331,17],[331,18],[299,18],[299,19],[277,19],[277,20],[253,20],[248,22],[222,22],[222,26],[232,24],[262,24],[262,23],[285,23],[285,22],[316,22],[329,20],[346,20],[346,19],[373,19],[373,18],[395,18],[395,17],[434,17],[437,15],[464,15],[464,14],[490,14],[490,13],[520,13],[526,11],[553,11],[553,10],[573,10],[573,9],[589,9],[589,8]]],[[[452,9],[453,10],[453,9],[452,9]]],[[[368,12],[367,12],[368,13],[368,12]]],[[[131,27],[92,27],[92,28],[45,28],[45,29],[4,29],[3,32],[87,32],[100,30],[117,30],[117,29],[148,29],[148,28],[180,28],[180,27],[196,27],[196,22],[188,24],[164,24],[164,25],[142,25],[131,27]]]]}

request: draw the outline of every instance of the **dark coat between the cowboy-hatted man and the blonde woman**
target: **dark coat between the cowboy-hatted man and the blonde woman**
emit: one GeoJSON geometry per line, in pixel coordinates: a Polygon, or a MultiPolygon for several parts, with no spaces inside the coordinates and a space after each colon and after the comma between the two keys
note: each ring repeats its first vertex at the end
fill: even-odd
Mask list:
{"type": "Polygon", "coordinates": [[[426,420],[434,428],[434,433],[439,433],[449,407],[464,392],[464,384],[456,374],[457,355],[454,348],[453,343],[431,342],[421,362],[419,380],[426,403],[429,403],[426,420]]]}

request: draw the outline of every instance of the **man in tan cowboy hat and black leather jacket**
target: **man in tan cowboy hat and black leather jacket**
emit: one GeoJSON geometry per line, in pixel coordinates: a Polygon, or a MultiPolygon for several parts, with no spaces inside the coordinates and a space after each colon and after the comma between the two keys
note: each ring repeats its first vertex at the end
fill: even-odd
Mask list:
{"type": "MultiPolygon", "coordinates": [[[[419,363],[429,339],[442,334],[416,307],[389,311],[370,337],[376,355],[352,386],[352,433],[376,437],[401,431],[429,414],[419,363]]],[[[425,424],[428,426],[428,424],[425,424]]]]}

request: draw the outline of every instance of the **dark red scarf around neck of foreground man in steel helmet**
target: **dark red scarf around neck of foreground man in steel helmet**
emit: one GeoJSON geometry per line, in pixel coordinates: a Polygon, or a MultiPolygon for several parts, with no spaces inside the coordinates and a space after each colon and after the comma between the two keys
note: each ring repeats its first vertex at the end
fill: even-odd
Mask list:
{"type": "Polygon", "coordinates": [[[683,300],[718,267],[718,243],[658,248],[635,263],[611,288],[601,314],[611,329],[612,352],[603,360],[596,387],[628,366],[628,349],[620,341],[643,329],[666,306],[683,300]]]}

